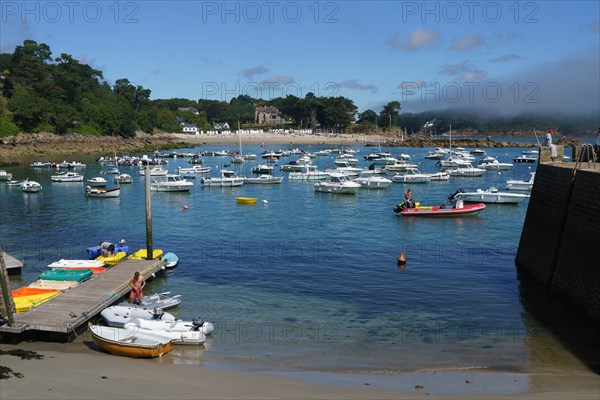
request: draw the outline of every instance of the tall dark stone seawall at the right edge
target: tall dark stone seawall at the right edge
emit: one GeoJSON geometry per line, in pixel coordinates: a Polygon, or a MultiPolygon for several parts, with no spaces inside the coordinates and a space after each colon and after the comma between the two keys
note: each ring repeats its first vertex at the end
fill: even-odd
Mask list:
{"type": "Polygon", "coordinates": [[[515,263],[600,329],[600,166],[540,164],[515,263]]]}

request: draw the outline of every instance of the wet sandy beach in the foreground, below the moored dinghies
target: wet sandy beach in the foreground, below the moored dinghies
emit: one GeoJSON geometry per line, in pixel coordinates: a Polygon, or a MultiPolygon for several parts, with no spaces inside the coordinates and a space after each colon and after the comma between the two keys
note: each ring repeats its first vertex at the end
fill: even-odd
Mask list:
{"type": "Polygon", "coordinates": [[[68,344],[0,345],[3,352],[16,349],[43,358],[0,355],[0,365],[12,370],[0,380],[2,399],[597,399],[600,390],[598,376],[582,371],[331,374],[202,360],[183,365],[172,353],[118,357],[85,337],[68,344]]]}

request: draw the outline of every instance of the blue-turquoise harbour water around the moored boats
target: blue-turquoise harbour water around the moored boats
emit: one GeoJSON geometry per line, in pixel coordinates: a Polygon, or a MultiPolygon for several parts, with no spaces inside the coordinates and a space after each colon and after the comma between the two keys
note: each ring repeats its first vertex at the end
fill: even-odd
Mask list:
{"type": "MultiPolygon", "coordinates": [[[[305,147],[320,148],[326,146],[305,147]]],[[[356,148],[361,160],[371,150],[356,148]]],[[[402,152],[422,171],[435,171],[435,162],[423,158],[427,150],[402,152]]],[[[522,149],[486,151],[506,162],[522,149]]],[[[72,158],[88,163],[86,178],[98,176],[97,156],[72,158]]],[[[333,167],[333,158],[315,162],[333,167]]],[[[85,248],[103,240],[125,238],[130,248],[145,247],[143,177],[133,168],[120,168],[134,176],[120,198],[89,199],[83,183],[52,183],[53,171],[30,169],[36,160],[6,169],[13,179],[40,182],[41,193],[0,184],[0,246],[26,262],[12,286],[36,280],[60,258],[85,258],[85,248]]],[[[215,170],[228,159],[205,160],[215,170]]],[[[252,165],[240,172],[250,175],[252,165]]],[[[177,166],[187,163],[169,159],[170,171],[177,166]]],[[[528,179],[534,168],[515,164],[502,174],[409,187],[422,204],[441,204],[458,188],[503,188],[508,179],[528,179]]],[[[181,294],[174,314],[201,316],[216,327],[204,351],[180,349],[174,362],[335,371],[528,365],[532,323],[514,266],[527,202],[490,204],[475,217],[411,219],[392,211],[406,188],[395,183],[390,190],[342,196],[287,179],[239,188],[204,188],[196,179],[190,193],[153,193],[154,246],[176,253],[180,262],[146,292],[181,294]],[[239,205],[237,196],[259,201],[239,205]],[[408,259],[404,270],[396,262],[401,251],[408,259]]]]}

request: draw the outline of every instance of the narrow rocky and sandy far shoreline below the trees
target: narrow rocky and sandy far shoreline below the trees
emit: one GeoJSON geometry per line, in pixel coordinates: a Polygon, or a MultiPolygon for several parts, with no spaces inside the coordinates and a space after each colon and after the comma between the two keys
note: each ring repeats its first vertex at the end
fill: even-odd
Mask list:
{"type": "MultiPolygon", "coordinates": [[[[281,144],[281,145],[373,145],[379,142],[365,135],[291,135],[260,134],[244,137],[244,144],[281,144]]],[[[382,147],[447,147],[449,139],[413,136],[404,141],[381,138],[382,147]]],[[[95,154],[112,152],[155,151],[194,147],[209,144],[237,145],[235,134],[194,136],[183,134],[145,134],[137,133],[133,138],[119,136],[85,136],[79,134],[54,135],[52,133],[19,133],[0,139],[0,160],[4,163],[22,157],[67,156],[71,154],[95,154]]],[[[560,140],[557,144],[570,146],[577,144],[574,139],[560,140]]],[[[531,143],[494,141],[491,139],[453,139],[453,147],[532,147],[531,143]]]]}

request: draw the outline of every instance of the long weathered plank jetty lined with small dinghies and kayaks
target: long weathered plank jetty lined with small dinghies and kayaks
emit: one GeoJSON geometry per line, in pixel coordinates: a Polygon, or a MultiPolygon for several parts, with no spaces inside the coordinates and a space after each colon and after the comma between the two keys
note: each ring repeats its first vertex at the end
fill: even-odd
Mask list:
{"type": "Polygon", "coordinates": [[[139,271],[151,279],[164,270],[162,260],[124,260],[103,274],[93,275],[80,285],[66,290],[22,314],[14,314],[14,324],[0,326],[0,339],[24,334],[27,338],[70,340],[100,311],[129,293],[129,280],[139,271]]]}

